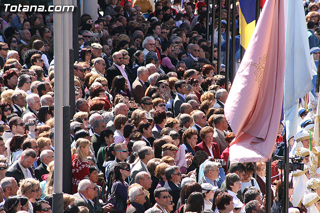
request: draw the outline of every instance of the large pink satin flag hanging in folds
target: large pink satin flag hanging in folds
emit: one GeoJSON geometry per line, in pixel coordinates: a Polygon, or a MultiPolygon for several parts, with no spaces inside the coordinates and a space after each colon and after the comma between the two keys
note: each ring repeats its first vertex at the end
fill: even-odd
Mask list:
{"type": "Polygon", "coordinates": [[[224,106],[231,162],[269,161],[283,98],[283,0],[266,0],[224,106]]]}

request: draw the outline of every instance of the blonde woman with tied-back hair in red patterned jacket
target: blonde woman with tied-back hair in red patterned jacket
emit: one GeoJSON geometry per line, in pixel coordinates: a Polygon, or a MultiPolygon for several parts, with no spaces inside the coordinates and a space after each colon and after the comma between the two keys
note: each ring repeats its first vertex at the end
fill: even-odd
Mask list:
{"type": "Polygon", "coordinates": [[[90,141],[79,138],[72,147],[72,194],[77,193],[77,187],[81,180],[89,179],[89,164],[86,157],[90,154],[90,145],[90,141]]]}

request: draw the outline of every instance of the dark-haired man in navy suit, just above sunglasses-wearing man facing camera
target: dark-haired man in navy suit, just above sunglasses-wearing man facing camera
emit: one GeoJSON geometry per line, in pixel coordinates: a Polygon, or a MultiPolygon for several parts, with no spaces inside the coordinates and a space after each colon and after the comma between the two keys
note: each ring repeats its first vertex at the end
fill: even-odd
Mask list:
{"type": "Polygon", "coordinates": [[[176,209],[176,204],[179,200],[181,186],[181,172],[178,166],[169,166],[165,169],[166,182],[164,188],[168,190],[169,194],[172,196],[173,209],[176,209]]]}

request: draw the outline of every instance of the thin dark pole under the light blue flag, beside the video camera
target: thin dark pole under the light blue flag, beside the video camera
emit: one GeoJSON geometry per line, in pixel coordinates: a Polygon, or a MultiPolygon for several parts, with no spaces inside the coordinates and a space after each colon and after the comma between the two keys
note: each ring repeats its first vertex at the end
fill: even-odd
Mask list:
{"type": "MultiPolygon", "coordinates": [[[[286,136],[286,131],[284,128],[284,135],[286,136]]],[[[286,141],[286,137],[283,137],[283,142],[284,142],[284,192],[283,192],[283,199],[284,205],[283,205],[283,213],[288,212],[289,208],[289,199],[287,199],[289,196],[288,189],[289,189],[289,142],[286,141]]],[[[280,177],[282,178],[282,177],[280,177]]]]}

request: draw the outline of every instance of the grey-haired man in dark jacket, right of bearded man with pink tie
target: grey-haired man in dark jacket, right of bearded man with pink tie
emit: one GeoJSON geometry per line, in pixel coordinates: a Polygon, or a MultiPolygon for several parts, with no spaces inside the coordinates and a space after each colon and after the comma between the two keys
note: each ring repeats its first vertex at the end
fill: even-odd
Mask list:
{"type": "Polygon", "coordinates": [[[131,94],[134,97],[136,103],[141,103],[141,98],[144,97],[145,90],[147,88],[145,82],[148,79],[148,69],[140,66],[137,69],[137,78],[133,81],[131,94]]]}

